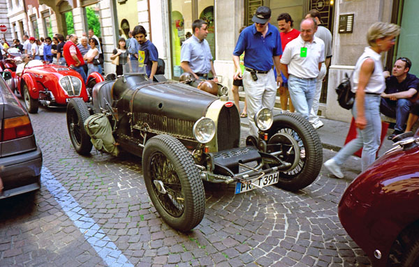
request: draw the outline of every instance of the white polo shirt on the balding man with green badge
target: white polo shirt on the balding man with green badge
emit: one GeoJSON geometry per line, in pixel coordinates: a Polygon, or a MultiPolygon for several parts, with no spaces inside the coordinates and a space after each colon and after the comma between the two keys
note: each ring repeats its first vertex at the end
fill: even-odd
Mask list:
{"type": "Polygon", "coordinates": [[[314,36],[313,41],[305,42],[298,36],[285,47],[281,63],[288,65],[288,73],[299,78],[316,78],[320,70],[318,63],[325,61],[325,43],[314,36]],[[307,56],[302,57],[302,48],[307,48],[307,56]]]}

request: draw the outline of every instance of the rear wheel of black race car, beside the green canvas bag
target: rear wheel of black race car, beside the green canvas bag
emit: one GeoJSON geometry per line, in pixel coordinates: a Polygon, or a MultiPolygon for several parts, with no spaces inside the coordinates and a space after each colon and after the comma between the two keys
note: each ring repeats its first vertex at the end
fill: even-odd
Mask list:
{"type": "Polygon", "coordinates": [[[88,155],[93,146],[84,129],[84,121],[90,116],[86,103],[81,98],[71,98],[67,105],[67,128],[71,143],[80,155],[88,155]]]}

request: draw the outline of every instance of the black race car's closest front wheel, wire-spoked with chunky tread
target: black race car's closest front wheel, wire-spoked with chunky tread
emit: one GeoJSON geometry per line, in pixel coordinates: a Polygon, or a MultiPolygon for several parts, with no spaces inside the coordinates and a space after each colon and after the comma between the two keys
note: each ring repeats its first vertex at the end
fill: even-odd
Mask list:
{"type": "Polygon", "coordinates": [[[203,181],[191,154],[179,140],[170,135],[149,139],[142,169],[149,197],[170,227],[189,231],[203,220],[203,181]]]}

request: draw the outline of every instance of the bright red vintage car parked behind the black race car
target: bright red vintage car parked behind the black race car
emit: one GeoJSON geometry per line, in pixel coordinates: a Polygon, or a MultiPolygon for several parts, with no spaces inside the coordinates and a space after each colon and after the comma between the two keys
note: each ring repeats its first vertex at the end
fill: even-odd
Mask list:
{"type": "Polygon", "coordinates": [[[29,113],[38,112],[39,104],[65,106],[71,98],[88,101],[89,89],[104,81],[99,73],[91,73],[84,84],[77,71],[38,60],[29,61],[22,75],[19,77],[13,73],[13,77],[14,81],[8,82],[8,85],[23,96],[29,113]]]}

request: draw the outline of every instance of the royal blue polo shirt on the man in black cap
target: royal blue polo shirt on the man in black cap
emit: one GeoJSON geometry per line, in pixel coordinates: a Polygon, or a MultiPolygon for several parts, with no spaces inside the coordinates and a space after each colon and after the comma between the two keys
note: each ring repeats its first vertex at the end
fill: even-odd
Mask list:
{"type": "Polygon", "coordinates": [[[243,52],[246,52],[244,66],[253,68],[253,70],[270,70],[274,65],[272,56],[281,56],[282,54],[281,36],[277,27],[268,23],[265,37],[256,31],[255,24],[246,27],[240,33],[233,55],[240,56],[243,52]]]}

